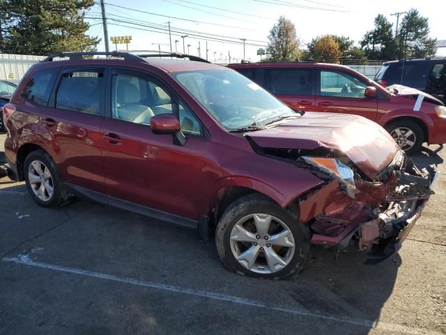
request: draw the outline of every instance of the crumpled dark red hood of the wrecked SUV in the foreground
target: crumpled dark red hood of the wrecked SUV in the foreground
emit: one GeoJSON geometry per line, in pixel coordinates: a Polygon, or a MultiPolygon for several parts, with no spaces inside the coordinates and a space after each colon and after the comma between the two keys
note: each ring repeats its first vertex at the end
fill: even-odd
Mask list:
{"type": "Polygon", "coordinates": [[[246,135],[265,148],[338,149],[371,179],[375,179],[399,151],[384,128],[351,114],[306,112],[299,119],[246,135]]]}

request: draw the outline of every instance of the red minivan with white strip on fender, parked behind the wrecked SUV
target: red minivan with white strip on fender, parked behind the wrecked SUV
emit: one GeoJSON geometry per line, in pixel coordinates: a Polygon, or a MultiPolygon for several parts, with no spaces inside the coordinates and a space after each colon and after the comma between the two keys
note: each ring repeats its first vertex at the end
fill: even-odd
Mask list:
{"type": "Polygon", "coordinates": [[[383,126],[408,154],[446,142],[446,108],[421,91],[387,89],[346,66],[323,63],[231,64],[295,110],[356,114],[383,126]],[[369,89],[367,89],[369,87],[369,89]],[[420,98],[421,99],[421,98],[420,98]]]}

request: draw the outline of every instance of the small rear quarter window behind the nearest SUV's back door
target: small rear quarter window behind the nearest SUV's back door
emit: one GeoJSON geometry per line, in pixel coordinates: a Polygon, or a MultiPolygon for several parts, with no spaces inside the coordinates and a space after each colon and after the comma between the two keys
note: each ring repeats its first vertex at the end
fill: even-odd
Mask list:
{"type": "Polygon", "coordinates": [[[59,68],[36,71],[26,82],[22,96],[36,105],[47,106],[58,73],[59,68]]]}

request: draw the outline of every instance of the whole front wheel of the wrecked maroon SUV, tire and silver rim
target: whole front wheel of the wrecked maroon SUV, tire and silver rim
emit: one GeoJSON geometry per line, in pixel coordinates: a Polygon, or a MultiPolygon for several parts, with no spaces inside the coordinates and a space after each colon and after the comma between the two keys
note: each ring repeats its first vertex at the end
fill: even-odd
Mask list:
{"type": "Polygon", "coordinates": [[[284,278],[297,274],[309,257],[309,230],[297,213],[263,195],[245,195],[220,219],[215,243],[224,266],[238,274],[284,278]]]}

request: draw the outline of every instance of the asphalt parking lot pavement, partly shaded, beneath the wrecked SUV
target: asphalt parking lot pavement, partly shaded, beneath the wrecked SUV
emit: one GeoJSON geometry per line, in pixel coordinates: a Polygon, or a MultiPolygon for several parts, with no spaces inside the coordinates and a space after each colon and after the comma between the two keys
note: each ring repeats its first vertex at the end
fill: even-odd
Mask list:
{"type": "MultiPolygon", "coordinates": [[[[443,163],[429,149],[417,164],[443,163]]],[[[268,281],[226,271],[197,232],[79,199],[45,209],[3,177],[0,334],[446,334],[445,186],[380,265],[314,247],[298,278],[268,281]]]]}

